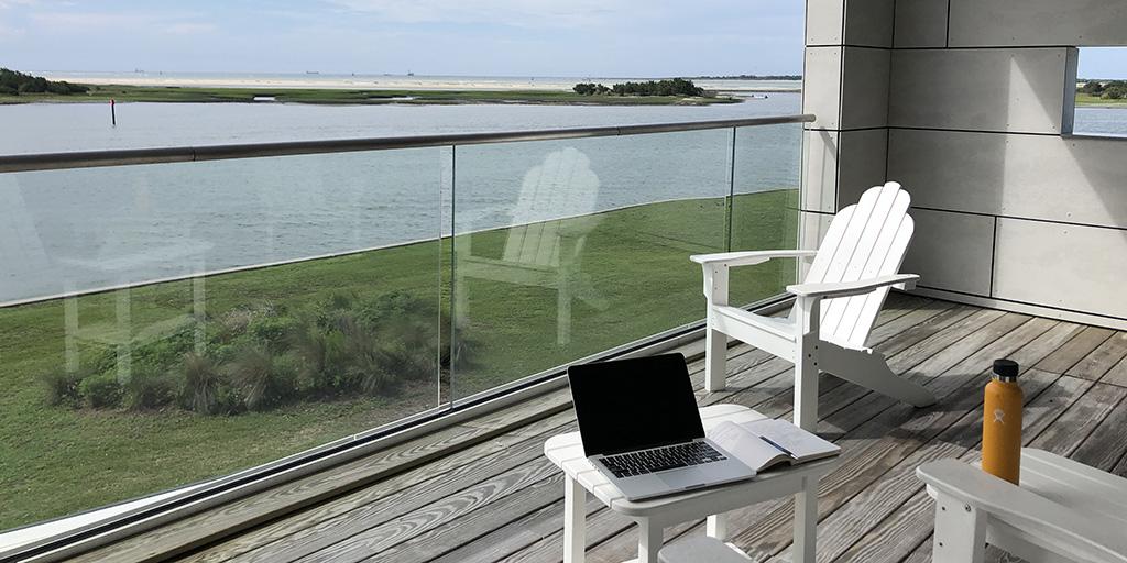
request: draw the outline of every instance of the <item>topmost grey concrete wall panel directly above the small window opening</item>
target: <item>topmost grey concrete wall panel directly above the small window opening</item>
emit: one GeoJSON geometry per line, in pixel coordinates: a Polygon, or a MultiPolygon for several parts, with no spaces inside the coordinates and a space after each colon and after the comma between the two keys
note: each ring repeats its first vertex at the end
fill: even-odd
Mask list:
{"type": "Polygon", "coordinates": [[[1127,45],[1127,2],[951,0],[952,47],[1014,45],[1127,45]]]}

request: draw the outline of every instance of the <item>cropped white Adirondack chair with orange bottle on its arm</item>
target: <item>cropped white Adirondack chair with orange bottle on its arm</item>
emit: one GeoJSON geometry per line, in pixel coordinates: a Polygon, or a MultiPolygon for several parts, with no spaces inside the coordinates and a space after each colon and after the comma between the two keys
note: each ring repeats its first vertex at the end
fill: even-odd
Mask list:
{"type": "Polygon", "coordinates": [[[1127,479],[1031,448],[1021,486],[957,459],[916,475],[935,499],[932,561],[979,563],[991,544],[1032,563],[1127,563],[1127,479]]]}

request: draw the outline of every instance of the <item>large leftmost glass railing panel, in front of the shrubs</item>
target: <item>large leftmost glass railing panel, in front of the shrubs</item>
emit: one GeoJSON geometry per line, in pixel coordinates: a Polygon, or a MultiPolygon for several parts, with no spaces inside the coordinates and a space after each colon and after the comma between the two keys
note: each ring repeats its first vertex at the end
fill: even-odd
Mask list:
{"type": "Polygon", "coordinates": [[[0,529],[437,406],[443,159],[0,173],[0,529]]]}

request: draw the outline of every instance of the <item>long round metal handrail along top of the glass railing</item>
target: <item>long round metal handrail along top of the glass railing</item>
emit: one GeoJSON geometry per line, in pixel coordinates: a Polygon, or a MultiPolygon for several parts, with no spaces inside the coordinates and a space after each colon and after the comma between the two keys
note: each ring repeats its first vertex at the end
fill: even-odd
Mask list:
{"type": "Polygon", "coordinates": [[[427,146],[461,146],[524,141],[549,141],[558,138],[644,135],[649,133],[672,133],[677,131],[701,131],[728,127],[780,125],[786,123],[809,123],[813,122],[814,118],[814,115],[800,114],[773,117],[749,117],[745,119],[718,119],[710,122],[509,131],[499,133],[456,133],[449,135],[338,138],[329,141],[293,141],[285,143],[251,143],[211,146],[174,146],[165,149],[125,149],[113,151],[12,154],[0,157],[0,173],[28,172],[34,170],[63,170],[71,168],[158,164],[168,162],[195,162],[202,160],[291,157],[296,154],[388,151],[393,149],[420,149],[427,146]]]}

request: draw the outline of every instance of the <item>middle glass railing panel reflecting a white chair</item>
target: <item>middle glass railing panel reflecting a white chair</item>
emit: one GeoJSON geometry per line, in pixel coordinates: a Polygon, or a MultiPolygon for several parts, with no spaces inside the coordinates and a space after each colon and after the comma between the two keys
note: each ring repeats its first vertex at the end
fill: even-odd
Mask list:
{"type": "Polygon", "coordinates": [[[453,396],[703,318],[730,129],[458,149],[453,396]]]}

